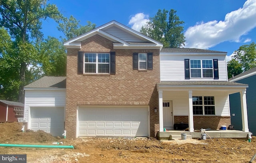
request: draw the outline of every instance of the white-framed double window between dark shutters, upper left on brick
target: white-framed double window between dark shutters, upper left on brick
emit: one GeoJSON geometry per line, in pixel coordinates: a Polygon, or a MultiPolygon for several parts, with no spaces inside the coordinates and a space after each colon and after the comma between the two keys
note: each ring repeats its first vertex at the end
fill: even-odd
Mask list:
{"type": "Polygon", "coordinates": [[[109,53],[84,53],[84,73],[109,73],[109,53]]]}

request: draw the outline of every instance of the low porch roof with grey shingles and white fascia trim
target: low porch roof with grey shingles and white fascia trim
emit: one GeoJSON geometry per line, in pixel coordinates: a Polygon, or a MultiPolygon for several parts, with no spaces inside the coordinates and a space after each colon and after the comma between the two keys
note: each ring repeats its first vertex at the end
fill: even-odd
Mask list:
{"type": "Polygon", "coordinates": [[[158,91],[208,90],[227,92],[228,94],[240,92],[247,87],[247,84],[229,81],[165,81],[157,84],[158,91]]]}

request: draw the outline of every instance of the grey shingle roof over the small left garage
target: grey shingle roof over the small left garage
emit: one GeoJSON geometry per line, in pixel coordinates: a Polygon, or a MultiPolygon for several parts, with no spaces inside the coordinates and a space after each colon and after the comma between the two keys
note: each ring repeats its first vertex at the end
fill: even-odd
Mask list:
{"type": "Polygon", "coordinates": [[[24,88],[66,88],[66,77],[45,76],[24,86],[24,88]]]}

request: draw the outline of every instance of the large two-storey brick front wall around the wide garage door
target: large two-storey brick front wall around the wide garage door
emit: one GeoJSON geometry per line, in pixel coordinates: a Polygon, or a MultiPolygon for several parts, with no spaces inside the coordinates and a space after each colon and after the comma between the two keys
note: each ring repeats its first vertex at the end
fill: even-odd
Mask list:
{"type": "Polygon", "coordinates": [[[94,35],[81,43],[81,49],[68,49],[66,81],[67,137],[76,136],[76,110],[79,105],[94,104],[146,104],[150,106],[150,136],[159,130],[158,92],[160,82],[159,49],[113,49],[113,42],[94,35]],[[115,75],[78,75],[78,51],[116,52],[115,75]],[[132,69],[132,53],[153,53],[153,70],[140,72],[132,69]]]}

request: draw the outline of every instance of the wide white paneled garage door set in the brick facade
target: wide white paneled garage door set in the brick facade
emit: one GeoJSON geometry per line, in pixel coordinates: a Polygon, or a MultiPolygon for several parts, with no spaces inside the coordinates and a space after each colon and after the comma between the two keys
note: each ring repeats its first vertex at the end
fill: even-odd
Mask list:
{"type": "Polygon", "coordinates": [[[80,106],[78,137],[148,136],[148,106],[80,106]]]}

